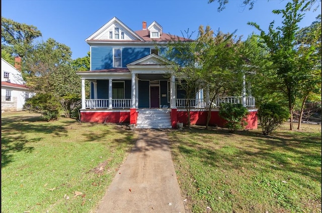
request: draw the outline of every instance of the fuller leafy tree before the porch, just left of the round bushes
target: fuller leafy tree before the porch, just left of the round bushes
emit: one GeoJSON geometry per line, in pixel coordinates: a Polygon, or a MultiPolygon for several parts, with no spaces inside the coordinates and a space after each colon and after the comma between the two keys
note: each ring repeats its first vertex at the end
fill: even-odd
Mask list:
{"type": "Polygon", "coordinates": [[[218,31],[214,36],[209,26],[199,27],[197,39],[200,52],[198,64],[202,66],[202,82],[206,89],[209,104],[206,129],[211,119],[211,110],[218,96],[241,91],[241,59],[238,52],[240,38],[235,40],[234,33],[224,34],[218,31]]]}

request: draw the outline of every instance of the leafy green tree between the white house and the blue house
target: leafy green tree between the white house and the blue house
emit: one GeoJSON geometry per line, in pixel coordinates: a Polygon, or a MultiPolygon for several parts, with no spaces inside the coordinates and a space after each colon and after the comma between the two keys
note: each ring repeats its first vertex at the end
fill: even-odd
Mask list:
{"type": "Polygon", "coordinates": [[[81,80],[71,62],[70,48],[52,38],[36,44],[24,61],[27,86],[40,94],[51,93],[67,117],[81,100],[81,80]]]}

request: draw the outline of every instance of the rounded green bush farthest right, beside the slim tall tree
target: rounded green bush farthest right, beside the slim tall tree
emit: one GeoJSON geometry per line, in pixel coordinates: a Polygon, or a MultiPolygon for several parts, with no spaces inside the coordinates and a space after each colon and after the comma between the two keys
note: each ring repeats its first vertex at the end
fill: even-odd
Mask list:
{"type": "Polygon", "coordinates": [[[257,112],[264,135],[272,133],[289,118],[289,112],[276,103],[264,103],[257,112]]]}

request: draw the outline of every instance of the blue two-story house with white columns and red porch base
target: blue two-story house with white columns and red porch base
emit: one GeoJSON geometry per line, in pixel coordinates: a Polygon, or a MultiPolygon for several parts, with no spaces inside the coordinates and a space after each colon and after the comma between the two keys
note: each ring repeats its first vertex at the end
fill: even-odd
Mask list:
{"type": "MultiPolygon", "coordinates": [[[[183,37],[177,39],[191,42],[183,37]]],[[[136,128],[176,128],[177,122],[186,123],[184,94],[175,76],[167,75],[173,67],[165,54],[170,40],[171,35],[164,33],[155,21],[148,26],[142,22],[142,29],[133,31],[116,17],[88,37],[91,70],[77,72],[82,78],[81,120],[130,123],[136,128]],[[89,99],[85,81],[91,82],[89,99]]],[[[204,96],[200,90],[192,101],[191,124],[206,123],[204,96]]],[[[255,103],[249,107],[250,119],[254,121],[255,103]]],[[[220,126],[218,109],[212,113],[210,125],[220,126]]],[[[257,128],[257,120],[248,128],[257,128]]]]}

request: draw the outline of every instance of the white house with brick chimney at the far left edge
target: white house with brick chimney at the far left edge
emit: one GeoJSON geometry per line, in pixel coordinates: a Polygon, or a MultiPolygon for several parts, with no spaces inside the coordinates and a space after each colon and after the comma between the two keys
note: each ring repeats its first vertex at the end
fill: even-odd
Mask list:
{"type": "Polygon", "coordinates": [[[26,99],[33,93],[26,87],[21,74],[21,58],[15,58],[15,67],[1,58],[1,111],[21,111],[26,99]]]}

